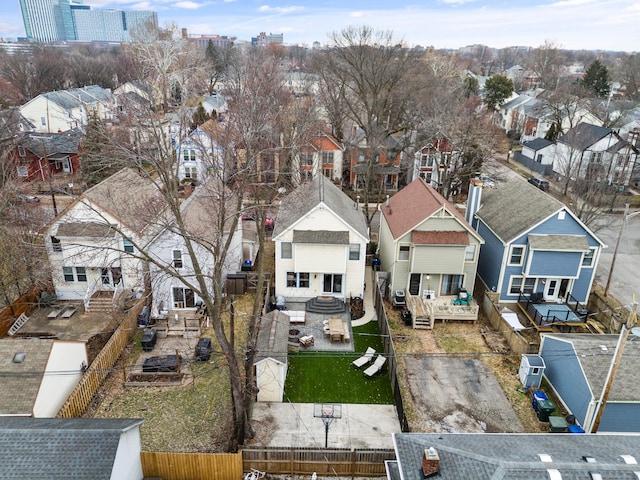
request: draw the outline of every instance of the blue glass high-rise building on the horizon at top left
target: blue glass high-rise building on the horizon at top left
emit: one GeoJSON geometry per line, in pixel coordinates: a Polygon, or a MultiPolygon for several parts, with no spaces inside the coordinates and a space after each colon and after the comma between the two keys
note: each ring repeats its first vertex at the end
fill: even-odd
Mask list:
{"type": "Polygon", "coordinates": [[[92,10],[83,0],[20,0],[27,38],[35,42],[129,42],[142,24],[158,25],[155,12],[92,10]]]}

